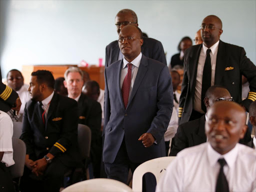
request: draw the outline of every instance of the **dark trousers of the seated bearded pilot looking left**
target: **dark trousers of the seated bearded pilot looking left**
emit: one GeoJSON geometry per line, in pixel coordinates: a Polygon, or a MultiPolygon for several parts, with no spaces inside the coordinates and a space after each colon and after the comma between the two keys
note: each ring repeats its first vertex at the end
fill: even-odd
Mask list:
{"type": "Polygon", "coordinates": [[[24,192],[58,192],[63,184],[64,174],[68,170],[69,167],[64,165],[58,158],[52,159],[52,162],[47,165],[42,176],[36,176],[25,166],[20,180],[20,190],[24,192]]]}

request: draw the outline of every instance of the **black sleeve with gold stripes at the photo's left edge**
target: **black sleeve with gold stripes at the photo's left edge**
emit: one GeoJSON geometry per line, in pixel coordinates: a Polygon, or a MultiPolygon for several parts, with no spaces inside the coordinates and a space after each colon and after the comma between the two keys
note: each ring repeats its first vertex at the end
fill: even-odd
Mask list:
{"type": "Polygon", "coordinates": [[[12,88],[2,83],[1,67],[0,80],[0,110],[7,112],[15,104],[18,94],[12,88]]]}

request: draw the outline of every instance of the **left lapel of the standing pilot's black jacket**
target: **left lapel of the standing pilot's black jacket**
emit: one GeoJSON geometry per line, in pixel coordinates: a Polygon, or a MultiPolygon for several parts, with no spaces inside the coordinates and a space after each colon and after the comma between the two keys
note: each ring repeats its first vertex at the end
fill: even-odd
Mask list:
{"type": "MultiPolygon", "coordinates": [[[[198,65],[201,48],[202,48],[202,44],[197,49],[196,57],[192,56],[193,53],[189,55],[189,62],[188,62],[189,79],[192,80],[192,83],[190,83],[190,90],[192,90],[193,92],[194,92],[194,87],[196,82],[197,65],[198,65]]],[[[193,93],[191,95],[193,95],[193,93]]]]}

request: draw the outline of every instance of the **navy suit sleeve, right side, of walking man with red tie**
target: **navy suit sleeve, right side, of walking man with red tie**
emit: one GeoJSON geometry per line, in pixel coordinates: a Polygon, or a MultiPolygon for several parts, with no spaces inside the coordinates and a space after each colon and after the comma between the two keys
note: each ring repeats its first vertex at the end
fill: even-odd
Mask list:
{"type": "Polygon", "coordinates": [[[159,75],[156,105],[158,111],[147,132],[151,133],[159,143],[167,129],[173,109],[172,82],[167,65],[162,68],[159,75]]]}

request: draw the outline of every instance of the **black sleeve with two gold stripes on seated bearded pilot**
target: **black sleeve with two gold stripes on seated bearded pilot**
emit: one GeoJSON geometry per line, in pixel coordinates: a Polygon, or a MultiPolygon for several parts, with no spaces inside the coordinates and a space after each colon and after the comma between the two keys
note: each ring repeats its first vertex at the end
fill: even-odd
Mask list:
{"type": "Polygon", "coordinates": [[[63,122],[59,139],[49,150],[49,153],[54,156],[58,156],[64,153],[72,145],[73,141],[77,140],[77,102],[75,100],[71,100],[71,102],[63,109],[63,113],[63,122]]]}

